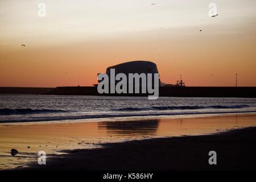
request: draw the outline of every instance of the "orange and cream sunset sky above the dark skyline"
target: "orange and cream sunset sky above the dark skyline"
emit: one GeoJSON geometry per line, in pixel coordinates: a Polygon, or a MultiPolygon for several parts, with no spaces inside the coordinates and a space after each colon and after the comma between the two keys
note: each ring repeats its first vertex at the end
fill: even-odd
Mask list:
{"type": "Polygon", "coordinates": [[[132,60],[156,63],[166,83],[182,75],[187,86],[234,86],[237,73],[238,86],[256,86],[255,8],[255,0],[0,1],[0,86],[89,86],[132,60]]]}

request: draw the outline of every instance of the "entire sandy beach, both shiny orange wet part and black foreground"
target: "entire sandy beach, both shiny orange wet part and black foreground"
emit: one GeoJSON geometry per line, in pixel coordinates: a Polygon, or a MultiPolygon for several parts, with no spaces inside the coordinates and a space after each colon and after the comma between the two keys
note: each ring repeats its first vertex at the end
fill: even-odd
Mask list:
{"type": "Polygon", "coordinates": [[[255,126],[255,114],[2,123],[0,166],[22,170],[255,169],[251,163],[255,158],[250,156],[255,151],[255,126]],[[243,129],[247,127],[251,128],[243,129]],[[11,148],[19,153],[11,156],[11,148]],[[210,150],[220,151],[217,167],[208,164],[210,150]],[[46,152],[47,165],[38,165],[38,151],[46,152]]]}

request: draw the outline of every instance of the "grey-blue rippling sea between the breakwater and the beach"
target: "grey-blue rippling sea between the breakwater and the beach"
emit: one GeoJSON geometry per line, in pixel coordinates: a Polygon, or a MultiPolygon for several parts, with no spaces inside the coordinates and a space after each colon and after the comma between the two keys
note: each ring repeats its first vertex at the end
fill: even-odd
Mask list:
{"type": "Polygon", "coordinates": [[[0,123],[255,113],[256,98],[0,95],[0,123]]]}

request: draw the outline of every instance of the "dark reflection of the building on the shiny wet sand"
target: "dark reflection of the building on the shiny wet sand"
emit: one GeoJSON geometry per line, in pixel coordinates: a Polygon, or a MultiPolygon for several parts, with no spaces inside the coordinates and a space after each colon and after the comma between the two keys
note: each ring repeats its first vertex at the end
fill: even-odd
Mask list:
{"type": "Polygon", "coordinates": [[[98,129],[106,129],[108,134],[118,135],[156,135],[159,119],[146,121],[108,121],[99,122],[98,129]]]}

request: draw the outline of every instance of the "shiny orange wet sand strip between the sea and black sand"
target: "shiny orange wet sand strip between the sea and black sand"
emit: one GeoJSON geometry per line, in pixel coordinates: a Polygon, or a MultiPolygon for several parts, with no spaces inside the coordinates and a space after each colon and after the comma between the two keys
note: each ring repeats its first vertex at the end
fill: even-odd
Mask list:
{"type": "Polygon", "coordinates": [[[58,155],[63,150],[100,147],[101,143],[213,134],[249,126],[256,126],[255,114],[18,125],[5,123],[0,125],[0,169],[26,167],[28,162],[36,161],[38,151],[42,150],[47,155],[58,155]],[[11,156],[11,148],[19,153],[11,156]]]}

